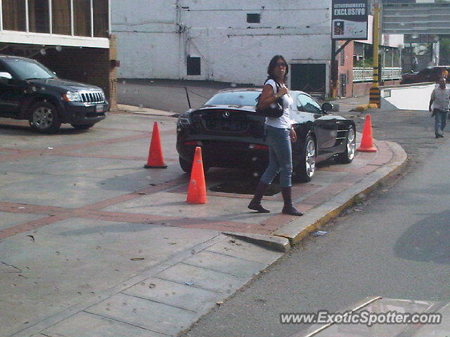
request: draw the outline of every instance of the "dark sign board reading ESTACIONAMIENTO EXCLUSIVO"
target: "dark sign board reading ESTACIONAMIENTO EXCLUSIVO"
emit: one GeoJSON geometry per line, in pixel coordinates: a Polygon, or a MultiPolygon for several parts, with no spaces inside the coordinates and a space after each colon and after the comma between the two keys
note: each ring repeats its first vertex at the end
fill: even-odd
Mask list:
{"type": "Polygon", "coordinates": [[[366,40],[368,0],[333,0],[331,39],[366,40]]]}

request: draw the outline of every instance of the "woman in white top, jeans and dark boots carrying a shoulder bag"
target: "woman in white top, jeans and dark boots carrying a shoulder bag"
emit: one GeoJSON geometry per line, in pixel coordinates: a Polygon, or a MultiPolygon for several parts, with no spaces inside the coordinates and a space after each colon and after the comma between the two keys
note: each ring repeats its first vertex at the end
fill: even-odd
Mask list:
{"type": "Polygon", "coordinates": [[[290,119],[289,106],[293,104],[285,81],[288,76],[289,67],[285,58],[275,55],[269,62],[267,74],[269,77],[264,83],[258,106],[261,109],[274,104],[278,98],[283,100],[283,114],[281,117],[266,117],[264,132],[266,143],[269,145],[269,165],[259,180],[255,195],[248,205],[249,209],[259,213],[269,213],[269,209],[264,209],[261,204],[262,196],[266,188],[272,183],[275,176],[280,173],[281,194],[283,194],[283,213],[291,216],[302,216],[303,213],[297,211],[293,206],[291,194],[291,178],[293,174],[293,158],[290,142],[297,140],[295,130],[292,128],[293,121],[290,119]]]}

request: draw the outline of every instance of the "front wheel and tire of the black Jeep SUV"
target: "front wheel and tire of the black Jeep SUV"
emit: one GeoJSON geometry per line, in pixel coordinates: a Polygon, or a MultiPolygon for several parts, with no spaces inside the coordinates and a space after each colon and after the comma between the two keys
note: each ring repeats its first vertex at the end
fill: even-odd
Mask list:
{"type": "Polygon", "coordinates": [[[41,101],[30,107],[30,126],[41,133],[56,133],[61,126],[61,118],[55,105],[41,101]]]}

